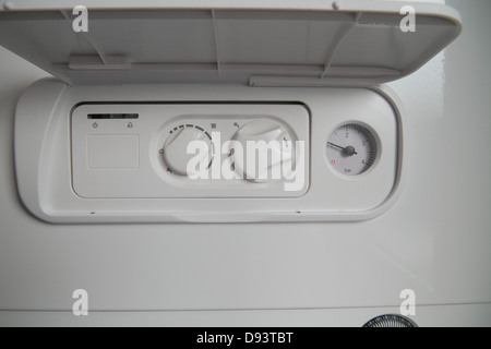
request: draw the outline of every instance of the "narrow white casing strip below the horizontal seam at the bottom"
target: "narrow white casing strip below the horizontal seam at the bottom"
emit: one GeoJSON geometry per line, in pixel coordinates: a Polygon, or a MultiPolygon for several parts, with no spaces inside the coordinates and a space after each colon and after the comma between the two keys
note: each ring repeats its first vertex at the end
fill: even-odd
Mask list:
{"type": "MultiPolygon", "coordinates": [[[[491,304],[421,306],[412,317],[418,326],[488,327],[491,304]],[[488,325],[488,326],[487,326],[488,325]]],[[[201,312],[92,312],[75,317],[65,312],[1,312],[0,326],[219,326],[238,327],[361,327],[381,314],[398,308],[298,309],[201,312]]],[[[247,330],[247,329],[244,329],[247,330]]],[[[295,332],[295,329],[294,329],[295,332]]],[[[295,334],[294,334],[295,336],[295,334]]],[[[189,340],[190,338],[185,338],[189,340]]]]}

